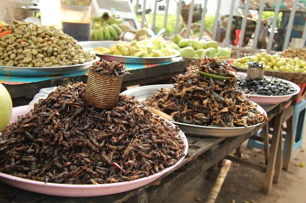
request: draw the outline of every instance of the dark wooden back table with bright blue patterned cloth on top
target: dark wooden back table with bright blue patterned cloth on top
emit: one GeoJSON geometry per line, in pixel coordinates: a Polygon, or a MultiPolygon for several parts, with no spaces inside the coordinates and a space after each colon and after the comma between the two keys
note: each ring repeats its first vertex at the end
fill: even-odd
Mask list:
{"type": "MultiPolygon", "coordinates": [[[[137,84],[158,84],[159,81],[163,81],[162,83],[165,83],[165,81],[170,80],[171,77],[175,76],[177,73],[185,71],[184,61],[182,61],[181,57],[174,58],[173,61],[162,64],[132,65],[133,67],[131,69],[129,69],[129,66],[127,66],[132,75],[124,77],[121,88],[137,84]]],[[[18,82],[16,79],[13,79],[15,80],[14,82],[10,82],[12,79],[8,78],[9,76],[6,77],[0,75],[0,82],[6,87],[12,98],[13,107],[15,107],[27,105],[41,88],[65,85],[69,81],[83,81],[86,83],[86,73],[87,71],[83,71],[80,73],[69,74],[68,76],[42,78],[38,81],[37,78],[31,77],[23,79],[24,81],[27,80],[28,82],[18,82]]],[[[17,79],[22,80],[21,77],[17,79]]]]}

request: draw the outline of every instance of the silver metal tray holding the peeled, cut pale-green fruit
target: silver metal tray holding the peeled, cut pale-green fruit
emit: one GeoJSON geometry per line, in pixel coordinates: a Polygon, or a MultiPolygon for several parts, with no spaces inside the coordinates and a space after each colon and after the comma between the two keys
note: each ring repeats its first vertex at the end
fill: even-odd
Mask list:
{"type": "MultiPolygon", "coordinates": [[[[118,41],[80,41],[77,42],[78,45],[81,45],[85,51],[92,50],[96,47],[110,47],[111,45],[118,44],[118,41]]],[[[133,63],[133,64],[155,64],[171,61],[173,57],[179,56],[181,53],[175,49],[174,55],[171,56],[162,56],[162,57],[136,57],[136,56],[118,56],[110,54],[96,54],[105,59],[106,61],[118,61],[120,63],[133,63]]]]}

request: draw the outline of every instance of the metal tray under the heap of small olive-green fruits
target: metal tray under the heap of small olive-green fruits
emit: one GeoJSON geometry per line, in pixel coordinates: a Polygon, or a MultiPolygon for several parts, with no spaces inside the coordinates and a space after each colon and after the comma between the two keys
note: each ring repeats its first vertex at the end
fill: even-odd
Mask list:
{"type": "Polygon", "coordinates": [[[74,73],[83,69],[88,69],[89,66],[100,58],[96,56],[95,60],[82,64],[71,66],[54,66],[54,67],[16,67],[16,66],[0,66],[0,75],[18,76],[18,77],[39,77],[39,76],[55,76],[74,73]]]}

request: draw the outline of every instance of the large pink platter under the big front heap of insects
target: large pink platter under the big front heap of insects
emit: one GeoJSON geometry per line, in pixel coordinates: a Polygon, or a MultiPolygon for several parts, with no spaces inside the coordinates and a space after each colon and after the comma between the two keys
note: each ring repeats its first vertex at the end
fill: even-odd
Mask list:
{"type": "MultiPolygon", "coordinates": [[[[18,115],[23,115],[27,112],[28,112],[28,105],[13,108],[11,122],[17,120],[18,115]]],[[[186,155],[188,151],[188,141],[186,139],[185,134],[182,131],[180,131],[179,136],[184,138],[184,142],[186,145],[184,152],[186,155]]],[[[163,174],[174,169],[183,161],[184,158],[185,156],[182,157],[180,160],[178,160],[173,166],[166,168],[160,171],[159,173],[155,173],[154,175],[140,178],[137,180],[121,182],[121,183],[108,183],[108,184],[98,184],[98,185],[44,183],[40,181],[11,176],[5,173],[0,173],[0,181],[8,185],[11,185],[13,187],[41,194],[64,196],[64,197],[92,197],[92,196],[100,196],[107,194],[116,194],[144,186],[156,180],[163,174]]]]}

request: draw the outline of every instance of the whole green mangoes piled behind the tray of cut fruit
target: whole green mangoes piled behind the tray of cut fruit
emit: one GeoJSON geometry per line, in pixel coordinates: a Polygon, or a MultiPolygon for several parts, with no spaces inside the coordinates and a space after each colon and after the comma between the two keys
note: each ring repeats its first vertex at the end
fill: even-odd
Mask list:
{"type": "Polygon", "coordinates": [[[203,55],[207,55],[208,57],[224,56],[226,59],[230,58],[230,49],[219,47],[216,41],[183,39],[178,34],[173,37],[173,41],[180,48],[181,56],[184,57],[199,59],[203,55]]]}

